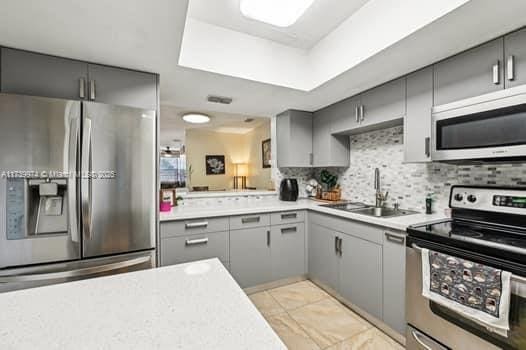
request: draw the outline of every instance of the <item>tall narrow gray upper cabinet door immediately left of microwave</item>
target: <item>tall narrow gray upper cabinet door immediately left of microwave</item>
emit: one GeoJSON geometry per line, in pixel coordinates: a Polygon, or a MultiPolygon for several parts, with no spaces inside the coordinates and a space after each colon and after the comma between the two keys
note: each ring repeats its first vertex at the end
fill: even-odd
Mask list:
{"type": "Polygon", "coordinates": [[[407,77],[407,111],[404,118],[404,161],[431,160],[431,109],[433,69],[426,68],[407,77]]]}

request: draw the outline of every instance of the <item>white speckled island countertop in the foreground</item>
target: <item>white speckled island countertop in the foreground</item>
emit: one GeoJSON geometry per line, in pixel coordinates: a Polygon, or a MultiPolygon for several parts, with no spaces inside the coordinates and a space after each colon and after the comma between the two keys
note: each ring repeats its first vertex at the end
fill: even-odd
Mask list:
{"type": "Polygon", "coordinates": [[[0,294],[0,349],[286,349],[217,259],[0,294]]]}

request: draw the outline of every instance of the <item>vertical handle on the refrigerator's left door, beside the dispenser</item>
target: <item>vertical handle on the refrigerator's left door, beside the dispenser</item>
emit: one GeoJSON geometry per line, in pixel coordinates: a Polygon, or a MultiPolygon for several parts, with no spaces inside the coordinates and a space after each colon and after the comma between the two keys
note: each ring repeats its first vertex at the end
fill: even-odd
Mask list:
{"type": "Polygon", "coordinates": [[[80,242],[79,224],[77,211],[77,157],[79,139],[79,119],[71,120],[69,129],[69,156],[68,156],[68,217],[71,240],[75,243],[80,242]]]}

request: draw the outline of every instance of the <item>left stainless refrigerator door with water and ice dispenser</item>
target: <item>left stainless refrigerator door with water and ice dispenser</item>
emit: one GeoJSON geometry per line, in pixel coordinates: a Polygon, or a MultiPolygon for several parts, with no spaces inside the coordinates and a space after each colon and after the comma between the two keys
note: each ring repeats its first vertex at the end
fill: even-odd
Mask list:
{"type": "Polygon", "coordinates": [[[0,94],[0,269],[80,258],[80,103],[0,94]]]}

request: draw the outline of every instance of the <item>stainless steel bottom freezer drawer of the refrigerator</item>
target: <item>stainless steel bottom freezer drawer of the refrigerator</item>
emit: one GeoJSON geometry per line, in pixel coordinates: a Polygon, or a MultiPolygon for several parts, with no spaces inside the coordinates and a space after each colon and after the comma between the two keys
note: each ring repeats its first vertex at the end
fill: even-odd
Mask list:
{"type": "Polygon", "coordinates": [[[0,293],[155,267],[155,251],[0,270],[0,293]]]}

